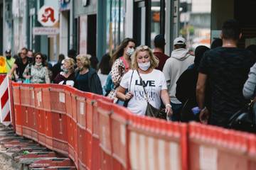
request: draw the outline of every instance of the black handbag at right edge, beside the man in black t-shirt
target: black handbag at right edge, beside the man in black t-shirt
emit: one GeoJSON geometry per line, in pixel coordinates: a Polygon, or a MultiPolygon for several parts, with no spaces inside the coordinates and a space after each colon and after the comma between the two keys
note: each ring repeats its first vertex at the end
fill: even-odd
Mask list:
{"type": "Polygon", "coordinates": [[[236,112],[228,121],[228,128],[256,132],[256,97],[245,108],[236,112]]]}

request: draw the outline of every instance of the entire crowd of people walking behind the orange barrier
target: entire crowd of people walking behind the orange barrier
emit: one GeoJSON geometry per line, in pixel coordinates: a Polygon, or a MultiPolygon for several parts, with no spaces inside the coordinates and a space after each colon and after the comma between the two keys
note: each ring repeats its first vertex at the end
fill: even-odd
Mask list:
{"type": "Polygon", "coordinates": [[[76,55],[75,50],[66,58],[59,55],[52,68],[41,53],[28,54],[26,48],[16,60],[6,50],[6,63],[10,79],[53,81],[103,94],[137,115],[148,115],[153,107],[164,109],[172,121],[228,128],[230,117],[256,96],[256,45],[238,48],[241,36],[238,21],[228,20],[210,48],[200,45],[191,52],[178,37],[170,57],[164,54],[164,35],[156,35],[154,50],[125,38],[112,56],[102,57],[99,68],[95,57],[76,55]]]}

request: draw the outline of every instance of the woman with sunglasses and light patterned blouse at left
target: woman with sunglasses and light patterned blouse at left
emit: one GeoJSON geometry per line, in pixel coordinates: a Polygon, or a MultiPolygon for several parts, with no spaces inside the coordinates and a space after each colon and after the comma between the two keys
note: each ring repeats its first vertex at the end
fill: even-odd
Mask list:
{"type": "Polygon", "coordinates": [[[38,52],[33,57],[33,63],[28,64],[23,72],[23,77],[29,79],[32,84],[49,84],[50,78],[45,58],[38,52]]]}

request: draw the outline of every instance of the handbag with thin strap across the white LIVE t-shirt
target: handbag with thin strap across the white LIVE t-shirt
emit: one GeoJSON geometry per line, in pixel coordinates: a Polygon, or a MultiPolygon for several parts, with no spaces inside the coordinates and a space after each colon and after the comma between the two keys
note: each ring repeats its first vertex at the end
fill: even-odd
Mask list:
{"type": "MultiPolygon", "coordinates": [[[[137,73],[139,74],[138,70],[137,70],[137,73]]],[[[146,90],[145,90],[145,84],[144,84],[144,81],[142,81],[142,77],[140,76],[140,74],[139,74],[139,79],[141,81],[144,93],[146,95],[146,103],[147,104],[146,104],[146,113],[145,113],[145,115],[149,116],[149,117],[153,117],[153,118],[160,118],[160,119],[166,120],[166,112],[164,111],[164,108],[163,109],[158,109],[158,108],[155,108],[154,106],[152,106],[149,103],[149,98],[148,98],[146,90]]]]}

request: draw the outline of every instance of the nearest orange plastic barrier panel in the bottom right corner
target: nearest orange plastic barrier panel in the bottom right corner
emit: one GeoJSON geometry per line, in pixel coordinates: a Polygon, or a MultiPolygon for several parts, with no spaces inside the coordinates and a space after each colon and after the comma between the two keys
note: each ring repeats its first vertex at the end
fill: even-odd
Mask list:
{"type": "Polygon", "coordinates": [[[210,125],[189,125],[189,167],[256,169],[255,135],[210,125]]]}

